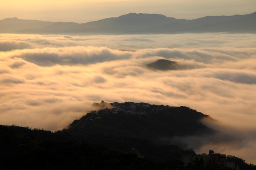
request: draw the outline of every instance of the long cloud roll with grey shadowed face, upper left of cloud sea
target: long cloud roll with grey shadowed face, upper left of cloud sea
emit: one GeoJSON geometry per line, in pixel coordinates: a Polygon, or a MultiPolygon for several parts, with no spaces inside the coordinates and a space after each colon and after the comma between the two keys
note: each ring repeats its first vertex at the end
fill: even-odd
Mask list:
{"type": "Polygon", "coordinates": [[[120,53],[107,47],[97,49],[93,47],[45,48],[24,50],[13,54],[13,58],[18,57],[38,66],[47,67],[56,64],[88,65],[117,59],[128,59],[130,56],[128,52],[120,53]]]}

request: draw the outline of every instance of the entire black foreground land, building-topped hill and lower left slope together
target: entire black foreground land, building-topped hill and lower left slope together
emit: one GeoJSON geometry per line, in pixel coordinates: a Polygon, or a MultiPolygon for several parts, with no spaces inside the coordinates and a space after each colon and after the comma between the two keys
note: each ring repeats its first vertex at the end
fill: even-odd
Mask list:
{"type": "MultiPolygon", "coordinates": [[[[169,140],[172,136],[220,133],[201,123],[208,115],[184,106],[143,102],[102,101],[93,106],[99,110],[92,110],[61,131],[1,125],[0,169],[220,169],[209,164],[208,154],[197,155],[185,144],[169,140]]],[[[241,170],[256,170],[235,156],[227,156],[229,160],[241,170]]]]}

